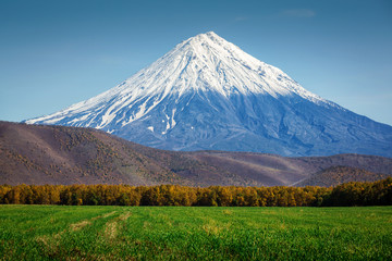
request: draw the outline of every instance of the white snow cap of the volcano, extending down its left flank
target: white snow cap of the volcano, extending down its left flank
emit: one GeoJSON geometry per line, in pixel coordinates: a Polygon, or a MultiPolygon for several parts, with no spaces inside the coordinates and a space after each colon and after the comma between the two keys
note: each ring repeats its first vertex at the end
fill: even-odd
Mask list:
{"type": "Polygon", "coordinates": [[[126,125],[144,117],[168,96],[180,99],[195,91],[212,91],[226,98],[252,94],[278,98],[295,94],[314,102],[327,102],[305,90],[281,70],[253,58],[216,33],[208,32],[179,44],[150,66],[114,88],[27,123],[56,124],[70,114],[82,113],[82,116],[73,117],[69,123],[78,125],[83,122],[86,126],[103,128],[117,117],[119,111],[124,108],[135,110],[134,103],[146,100],[132,116],[124,116],[122,121],[126,125]],[[105,113],[97,124],[95,114],[103,109],[105,113]]]}

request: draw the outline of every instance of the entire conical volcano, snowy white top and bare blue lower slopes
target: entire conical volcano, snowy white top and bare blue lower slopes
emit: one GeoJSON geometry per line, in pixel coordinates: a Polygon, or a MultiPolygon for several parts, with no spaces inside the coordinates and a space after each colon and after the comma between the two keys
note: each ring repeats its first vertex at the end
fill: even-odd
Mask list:
{"type": "Polygon", "coordinates": [[[392,127],[316,96],[209,32],[108,91],[26,121],[94,127],[172,150],[392,156],[392,127]]]}

